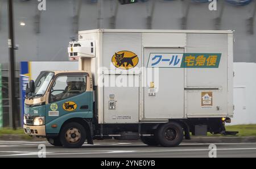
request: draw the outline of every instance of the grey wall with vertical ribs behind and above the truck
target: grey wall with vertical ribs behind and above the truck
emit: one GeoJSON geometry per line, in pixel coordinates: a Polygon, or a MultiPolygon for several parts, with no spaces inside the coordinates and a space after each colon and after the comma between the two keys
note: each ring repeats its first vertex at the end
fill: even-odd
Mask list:
{"type": "MultiPolygon", "coordinates": [[[[67,45],[72,37],[76,37],[76,12],[80,6],[78,29],[94,29],[98,26],[98,5],[90,1],[78,0],[46,0],[46,11],[38,11],[38,1],[14,1],[16,61],[67,61],[67,45]],[[39,16],[39,17],[38,17],[39,16]],[[39,19],[38,19],[39,18],[39,19]],[[25,26],[20,26],[24,22],[25,26]],[[37,29],[36,25],[39,25],[37,29]],[[36,33],[40,32],[40,33],[36,33]]],[[[102,27],[112,28],[116,13],[115,28],[147,29],[147,16],[151,14],[152,0],[132,5],[123,5],[116,9],[115,0],[104,0],[102,27]]],[[[209,3],[192,3],[187,16],[187,29],[215,29],[215,18],[220,15],[221,3],[217,11],[209,11],[209,3]]],[[[247,6],[236,7],[225,4],[221,17],[220,29],[236,30],[234,61],[256,62],[256,37],[247,31],[247,19],[253,15],[254,2],[247,6]]],[[[184,1],[156,1],[152,15],[153,29],[180,29],[181,18],[187,10],[184,1]]],[[[255,27],[254,27],[255,30],[255,27]]],[[[255,31],[256,32],[256,31],[255,31]]],[[[7,68],[7,0],[0,3],[0,62],[7,68]]],[[[210,44],[209,44],[210,45],[210,44]]],[[[17,64],[18,65],[18,64],[17,64]]]]}

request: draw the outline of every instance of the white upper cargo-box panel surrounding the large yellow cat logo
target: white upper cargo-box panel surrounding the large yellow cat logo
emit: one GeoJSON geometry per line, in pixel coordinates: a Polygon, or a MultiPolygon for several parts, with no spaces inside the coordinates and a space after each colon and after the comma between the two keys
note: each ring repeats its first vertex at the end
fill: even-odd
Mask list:
{"type": "Polygon", "coordinates": [[[137,68],[141,67],[141,33],[104,33],[103,66],[107,67],[108,69],[110,69],[110,66],[116,68],[112,63],[112,58],[114,57],[115,53],[121,51],[129,51],[137,55],[138,63],[136,63],[134,66],[137,68]]]}

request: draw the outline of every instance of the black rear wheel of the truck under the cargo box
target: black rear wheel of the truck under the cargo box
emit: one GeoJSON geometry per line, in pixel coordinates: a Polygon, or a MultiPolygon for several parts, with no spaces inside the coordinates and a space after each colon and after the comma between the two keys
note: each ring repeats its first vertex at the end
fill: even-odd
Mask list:
{"type": "Polygon", "coordinates": [[[168,122],[160,125],[156,131],[156,138],[161,146],[175,147],[178,146],[184,137],[183,129],[177,122],[168,122]]]}

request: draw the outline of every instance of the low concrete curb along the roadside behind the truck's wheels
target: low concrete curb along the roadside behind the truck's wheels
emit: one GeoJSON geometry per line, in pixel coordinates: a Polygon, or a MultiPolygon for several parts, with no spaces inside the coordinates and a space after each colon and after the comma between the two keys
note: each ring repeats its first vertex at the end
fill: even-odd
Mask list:
{"type": "MultiPolygon", "coordinates": [[[[24,134],[4,134],[0,136],[0,140],[8,141],[46,141],[46,138],[29,137],[24,134]]],[[[105,140],[105,142],[140,142],[140,141],[124,141],[124,140],[105,140]]],[[[99,141],[96,141],[99,142],[99,141]]],[[[255,143],[256,137],[191,137],[191,140],[183,140],[183,142],[197,143],[255,143]]]]}

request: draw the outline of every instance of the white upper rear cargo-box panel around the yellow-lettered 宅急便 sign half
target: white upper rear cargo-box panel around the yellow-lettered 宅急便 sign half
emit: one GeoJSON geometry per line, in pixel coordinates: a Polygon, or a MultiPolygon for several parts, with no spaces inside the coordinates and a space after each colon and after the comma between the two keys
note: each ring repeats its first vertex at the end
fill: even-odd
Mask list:
{"type": "Polygon", "coordinates": [[[188,33],[186,53],[221,53],[218,68],[187,68],[187,87],[224,87],[227,86],[227,49],[226,34],[188,33]]]}

